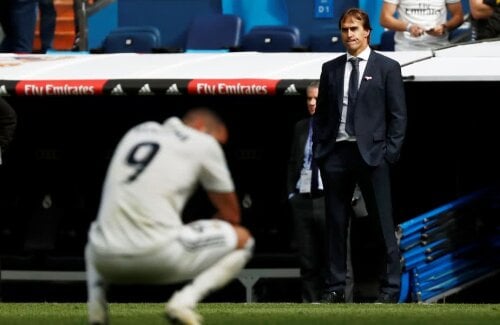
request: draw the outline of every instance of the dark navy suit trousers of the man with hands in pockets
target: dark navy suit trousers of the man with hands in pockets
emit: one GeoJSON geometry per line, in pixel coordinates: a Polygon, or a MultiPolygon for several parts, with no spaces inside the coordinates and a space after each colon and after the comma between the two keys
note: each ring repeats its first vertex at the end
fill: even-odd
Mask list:
{"type": "Polygon", "coordinates": [[[342,141],[319,161],[326,207],[328,266],[326,291],[343,291],[347,274],[347,239],[352,216],[351,199],[356,183],[363,193],[368,215],[377,218],[374,229],[383,238],[385,252],[380,256],[385,266],[380,270],[380,292],[398,294],[401,282],[400,252],[392,216],[390,168],[386,161],[369,166],[357,143],[342,141]]]}

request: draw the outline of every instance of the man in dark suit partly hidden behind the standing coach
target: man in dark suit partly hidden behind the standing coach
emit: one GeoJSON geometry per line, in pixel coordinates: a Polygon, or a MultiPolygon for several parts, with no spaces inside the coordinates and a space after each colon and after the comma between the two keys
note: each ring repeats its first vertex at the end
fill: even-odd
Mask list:
{"type": "MultiPolygon", "coordinates": [[[[313,172],[312,116],[319,82],[306,88],[309,116],[295,124],[287,170],[288,201],[293,219],[293,240],[300,266],[302,302],[319,302],[325,282],[325,200],[321,175],[313,172]],[[315,177],[315,181],[312,180],[315,177]]],[[[316,168],[316,171],[318,169],[316,168]]],[[[352,301],[352,268],[348,260],[346,297],[352,301]]]]}

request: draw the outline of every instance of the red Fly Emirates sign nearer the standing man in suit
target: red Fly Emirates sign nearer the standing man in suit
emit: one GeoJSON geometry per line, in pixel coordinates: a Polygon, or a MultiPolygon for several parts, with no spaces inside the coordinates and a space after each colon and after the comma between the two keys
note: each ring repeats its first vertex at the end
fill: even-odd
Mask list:
{"type": "Polygon", "coordinates": [[[188,93],[192,95],[274,95],[276,80],[211,79],[192,80],[188,93]]]}

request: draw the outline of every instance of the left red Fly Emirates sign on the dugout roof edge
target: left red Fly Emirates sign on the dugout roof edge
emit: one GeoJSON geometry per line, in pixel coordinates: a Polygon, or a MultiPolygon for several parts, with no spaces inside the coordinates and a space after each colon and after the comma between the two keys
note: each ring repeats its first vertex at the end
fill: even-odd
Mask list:
{"type": "Polygon", "coordinates": [[[16,93],[25,96],[99,95],[104,80],[25,81],[16,86],[16,93]]]}

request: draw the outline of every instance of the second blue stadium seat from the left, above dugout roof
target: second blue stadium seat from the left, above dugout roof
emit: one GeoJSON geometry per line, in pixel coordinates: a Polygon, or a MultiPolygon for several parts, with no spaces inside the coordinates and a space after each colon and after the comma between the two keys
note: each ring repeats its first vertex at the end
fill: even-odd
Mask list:
{"type": "Polygon", "coordinates": [[[240,45],[242,20],[237,15],[205,14],[196,16],[186,40],[186,52],[192,50],[229,51],[240,45]]]}

